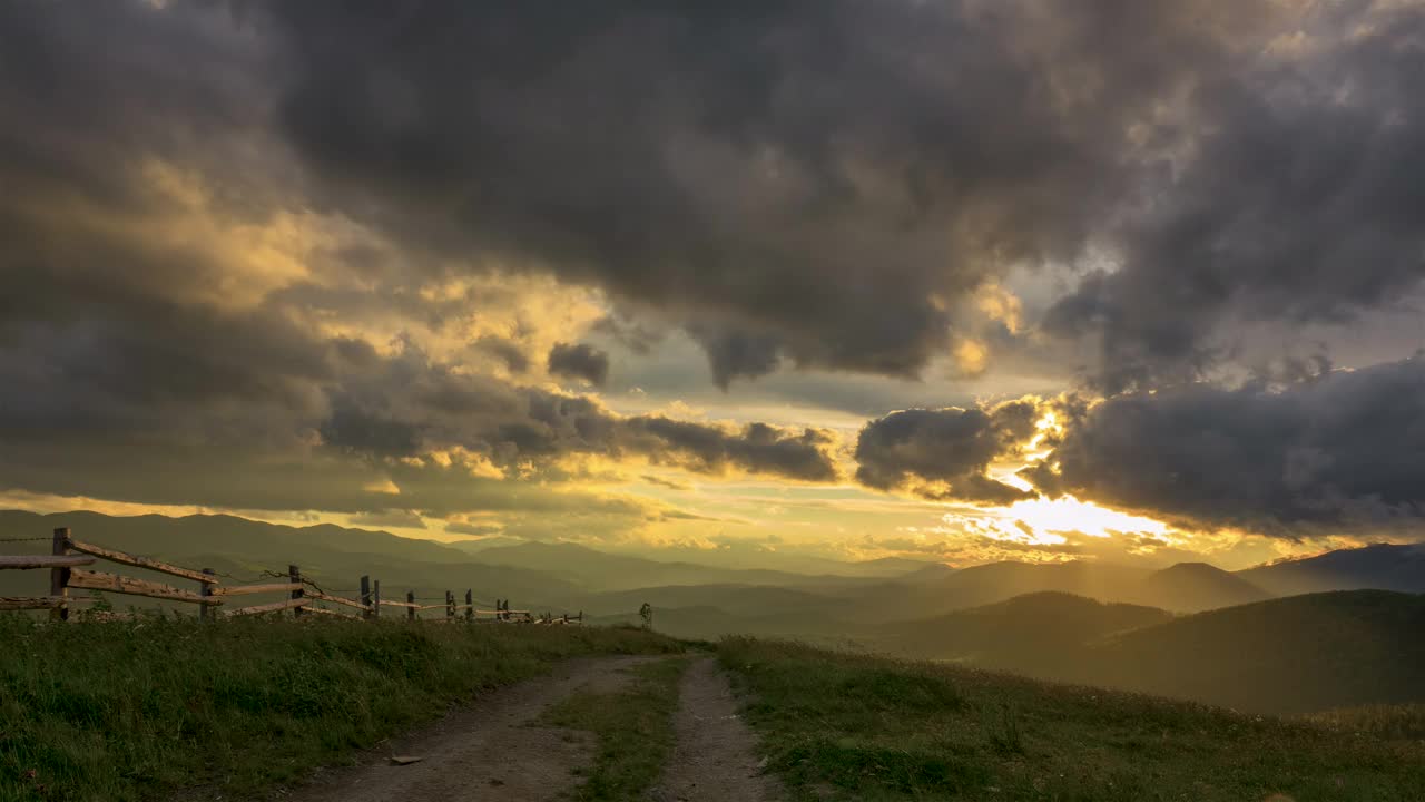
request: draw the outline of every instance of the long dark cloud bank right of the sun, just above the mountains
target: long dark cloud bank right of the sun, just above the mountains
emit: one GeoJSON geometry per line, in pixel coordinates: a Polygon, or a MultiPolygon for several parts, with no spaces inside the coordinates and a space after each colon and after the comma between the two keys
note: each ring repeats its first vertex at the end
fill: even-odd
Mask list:
{"type": "Polygon", "coordinates": [[[1297,537],[1301,525],[1425,512],[1425,360],[1334,371],[1274,391],[1188,385],[1112,398],[1072,421],[1050,494],[1207,527],[1297,537]]]}

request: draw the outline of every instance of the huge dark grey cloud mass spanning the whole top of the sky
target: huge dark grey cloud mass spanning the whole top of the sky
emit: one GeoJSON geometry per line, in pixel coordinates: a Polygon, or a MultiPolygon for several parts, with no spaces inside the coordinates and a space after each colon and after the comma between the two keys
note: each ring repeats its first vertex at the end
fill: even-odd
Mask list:
{"type": "MultiPolygon", "coordinates": [[[[782,364],[915,375],[963,328],[958,297],[1086,244],[1123,267],[1045,331],[1102,334],[1109,390],[1201,372],[1231,320],[1344,320],[1421,273],[1418,9],[234,9],[7,4],[7,184],[148,208],[127,173],[181,158],[235,213],[291,193],[409,254],[596,284],[684,327],[722,385],[782,364]],[[1282,57],[1273,37],[1298,27],[1324,44],[1282,57]],[[259,164],[285,158],[275,138],[311,173],[259,164]]],[[[145,284],[161,264],[83,273],[145,284]]]]}

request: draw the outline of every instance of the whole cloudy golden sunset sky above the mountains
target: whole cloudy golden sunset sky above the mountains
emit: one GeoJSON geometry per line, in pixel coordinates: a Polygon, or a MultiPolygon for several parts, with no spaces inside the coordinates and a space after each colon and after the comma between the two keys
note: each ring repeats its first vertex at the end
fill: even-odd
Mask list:
{"type": "Polygon", "coordinates": [[[1425,539],[1419,0],[0,39],[0,507],[747,565],[1425,539]]]}

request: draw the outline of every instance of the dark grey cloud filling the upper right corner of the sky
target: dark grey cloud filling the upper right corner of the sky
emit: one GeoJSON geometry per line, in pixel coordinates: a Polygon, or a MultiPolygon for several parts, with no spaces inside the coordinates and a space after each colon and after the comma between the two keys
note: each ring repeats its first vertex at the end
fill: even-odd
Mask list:
{"type": "Polygon", "coordinates": [[[1103,337],[1104,390],[1203,375],[1230,355],[1234,324],[1348,323],[1418,290],[1425,9],[1362,29],[1348,11],[1364,7],[1322,10],[1340,19],[1321,26],[1317,57],[1198,87],[1208,133],[1196,156],[1120,234],[1121,268],[1046,320],[1103,337]]]}

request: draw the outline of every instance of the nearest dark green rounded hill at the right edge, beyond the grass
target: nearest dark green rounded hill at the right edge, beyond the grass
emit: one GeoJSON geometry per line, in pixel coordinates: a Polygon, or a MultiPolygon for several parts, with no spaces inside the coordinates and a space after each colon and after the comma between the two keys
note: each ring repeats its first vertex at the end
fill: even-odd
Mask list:
{"type": "Polygon", "coordinates": [[[1425,597],[1338,591],[1203,612],[1096,646],[1072,678],[1241,711],[1425,699],[1425,597]]]}

